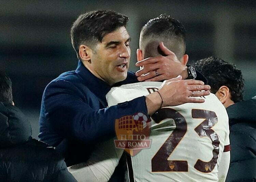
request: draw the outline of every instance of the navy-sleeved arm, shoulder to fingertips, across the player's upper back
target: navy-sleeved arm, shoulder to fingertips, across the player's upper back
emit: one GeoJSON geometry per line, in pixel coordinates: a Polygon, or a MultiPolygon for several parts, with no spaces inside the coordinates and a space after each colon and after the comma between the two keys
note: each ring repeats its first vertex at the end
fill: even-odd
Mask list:
{"type": "MultiPolygon", "coordinates": [[[[203,99],[190,97],[191,93],[196,90],[209,89],[210,87],[204,86],[202,81],[181,80],[181,77],[177,77],[165,81],[159,93],[163,98],[162,106],[175,106],[187,102],[202,103],[203,99]]],[[[193,96],[209,94],[209,91],[196,91],[193,96]]],[[[40,120],[45,118],[46,121],[43,122],[49,122],[51,128],[40,126],[40,132],[47,133],[49,129],[52,129],[53,133],[58,133],[63,138],[75,139],[83,143],[95,142],[115,136],[116,119],[124,115],[133,115],[136,112],[151,115],[161,106],[161,97],[158,93],[138,97],[104,109],[91,107],[95,104],[94,99],[97,100],[93,94],[85,95],[81,89],[69,81],[57,80],[50,83],[43,96],[42,107],[45,111],[43,115],[41,113],[40,120]]],[[[51,136],[40,135],[42,141],[47,142],[51,138],[51,136]]]]}

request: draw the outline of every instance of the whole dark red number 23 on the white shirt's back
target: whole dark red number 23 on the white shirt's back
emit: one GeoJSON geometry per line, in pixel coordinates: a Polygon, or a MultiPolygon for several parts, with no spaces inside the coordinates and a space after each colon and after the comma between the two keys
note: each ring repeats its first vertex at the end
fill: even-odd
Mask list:
{"type": "MultiPolygon", "coordinates": [[[[195,128],[195,131],[200,137],[209,137],[213,145],[213,158],[209,162],[204,162],[198,159],[194,167],[201,172],[211,172],[217,163],[219,154],[218,135],[211,129],[218,122],[217,116],[213,111],[192,109],[192,117],[205,119],[195,128]]],[[[156,123],[160,123],[167,118],[174,120],[176,128],[152,158],[152,172],[188,171],[187,161],[168,160],[169,156],[187,131],[186,120],[179,112],[171,108],[162,108],[152,116],[152,119],[156,123]]]]}

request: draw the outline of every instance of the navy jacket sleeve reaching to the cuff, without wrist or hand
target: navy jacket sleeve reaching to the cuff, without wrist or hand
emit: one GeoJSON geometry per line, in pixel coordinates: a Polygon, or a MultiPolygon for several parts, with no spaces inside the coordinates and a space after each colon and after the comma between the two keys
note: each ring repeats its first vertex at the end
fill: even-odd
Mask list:
{"type": "Polygon", "coordinates": [[[93,110],[88,104],[74,101],[72,98],[51,111],[48,120],[54,130],[65,138],[91,143],[115,136],[115,121],[125,115],[136,112],[147,113],[145,97],[120,103],[115,106],[93,110]]]}

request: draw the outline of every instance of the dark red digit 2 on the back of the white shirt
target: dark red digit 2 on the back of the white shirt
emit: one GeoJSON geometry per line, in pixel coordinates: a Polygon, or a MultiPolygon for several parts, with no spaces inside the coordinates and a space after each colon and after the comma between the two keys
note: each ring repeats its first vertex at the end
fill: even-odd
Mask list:
{"type": "Polygon", "coordinates": [[[152,158],[152,172],[188,171],[187,161],[167,160],[187,131],[186,120],[179,112],[170,108],[160,109],[152,116],[152,119],[156,123],[167,118],[172,118],[174,120],[176,128],[152,158]]]}

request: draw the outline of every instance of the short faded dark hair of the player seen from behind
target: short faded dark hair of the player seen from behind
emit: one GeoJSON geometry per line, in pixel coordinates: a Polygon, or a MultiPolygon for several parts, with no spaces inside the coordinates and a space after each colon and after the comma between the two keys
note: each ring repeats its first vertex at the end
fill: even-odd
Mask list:
{"type": "Polygon", "coordinates": [[[168,49],[181,59],[186,49],[185,38],[186,30],[184,25],[170,16],[161,14],[149,20],[142,27],[140,48],[144,51],[145,57],[153,57],[156,54],[161,54],[157,49],[157,45],[162,41],[168,49]]]}

